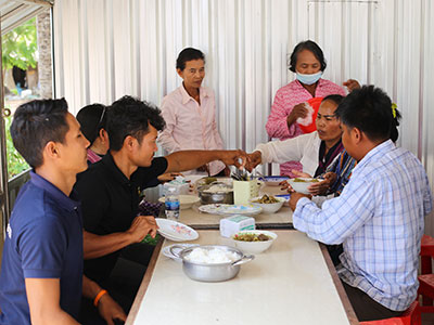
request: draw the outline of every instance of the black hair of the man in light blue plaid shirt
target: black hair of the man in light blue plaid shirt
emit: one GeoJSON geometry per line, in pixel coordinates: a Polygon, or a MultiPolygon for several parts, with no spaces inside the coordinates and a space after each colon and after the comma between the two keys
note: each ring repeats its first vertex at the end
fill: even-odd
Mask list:
{"type": "Polygon", "coordinates": [[[339,105],[336,115],[342,123],[359,129],[371,141],[398,139],[400,114],[392,108],[388,95],[374,86],[353,90],[339,105]]]}

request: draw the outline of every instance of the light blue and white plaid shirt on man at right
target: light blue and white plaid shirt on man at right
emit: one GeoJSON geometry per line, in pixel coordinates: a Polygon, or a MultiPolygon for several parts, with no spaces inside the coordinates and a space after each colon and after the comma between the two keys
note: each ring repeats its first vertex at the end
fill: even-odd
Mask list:
{"type": "Polygon", "coordinates": [[[343,243],[342,281],[404,311],[417,297],[423,219],[432,207],[422,165],[388,140],[359,161],[341,196],[322,209],[299,199],[293,222],[316,240],[343,243]]]}

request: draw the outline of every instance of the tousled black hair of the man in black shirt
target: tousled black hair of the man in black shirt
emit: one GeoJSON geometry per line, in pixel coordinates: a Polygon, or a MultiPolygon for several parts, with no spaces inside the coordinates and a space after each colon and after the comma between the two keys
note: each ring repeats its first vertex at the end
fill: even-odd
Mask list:
{"type": "Polygon", "coordinates": [[[161,131],[166,126],[161,110],[151,103],[125,95],[108,109],[107,129],[110,150],[119,151],[128,135],[141,143],[149,132],[149,125],[161,131]]]}

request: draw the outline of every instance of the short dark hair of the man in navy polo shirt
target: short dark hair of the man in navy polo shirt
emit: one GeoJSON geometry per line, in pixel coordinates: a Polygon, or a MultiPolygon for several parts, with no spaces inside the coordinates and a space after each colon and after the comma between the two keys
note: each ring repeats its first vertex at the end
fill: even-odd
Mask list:
{"type": "Polygon", "coordinates": [[[42,152],[50,141],[64,143],[69,130],[67,103],[61,100],[36,100],[16,108],[10,128],[13,144],[33,168],[43,164],[42,152]]]}

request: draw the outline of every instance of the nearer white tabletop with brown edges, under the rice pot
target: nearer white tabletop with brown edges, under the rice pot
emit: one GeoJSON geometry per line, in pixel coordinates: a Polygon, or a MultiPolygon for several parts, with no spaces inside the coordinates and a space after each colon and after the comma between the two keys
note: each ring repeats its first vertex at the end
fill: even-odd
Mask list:
{"type": "MultiPolygon", "coordinates": [[[[272,230],[271,247],[232,280],[189,278],[182,262],[155,247],[126,324],[359,324],[326,246],[296,230],[272,230]]],[[[217,230],[199,230],[199,245],[234,246],[217,230]]]]}

